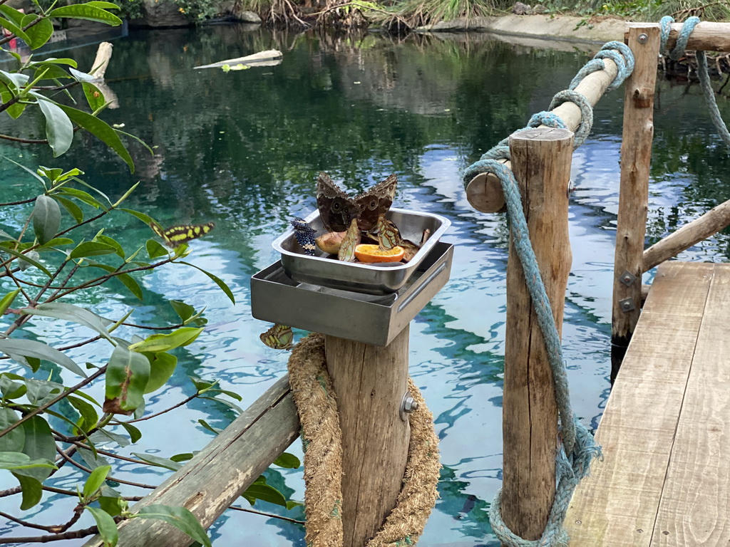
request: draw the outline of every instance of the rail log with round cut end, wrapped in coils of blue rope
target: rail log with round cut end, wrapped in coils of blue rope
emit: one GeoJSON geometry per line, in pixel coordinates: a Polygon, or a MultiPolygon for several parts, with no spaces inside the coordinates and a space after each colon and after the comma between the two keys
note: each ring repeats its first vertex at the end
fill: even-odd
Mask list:
{"type": "MultiPolygon", "coordinates": [[[[578,93],[583,93],[583,96],[588,99],[591,106],[595,105],[603,94],[606,93],[606,89],[611,85],[616,74],[618,74],[616,63],[610,59],[604,59],[603,61],[605,66],[603,70],[588,74],[575,88],[578,93]]],[[[545,106],[547,107],[548,105],[545,106]]],[[[575,131],[580,124],[580,107],[576,104],[571,102],[563,103],[557,106],[552,112],[564,121],[570,131],[575,131]]],[[[545,125],[541,125],[540,127],[545,127],[545,125]]],[[[507,160],[500,160],[500,163],[504,163],[507,167],[510,167],[510,162],[507,160]]],[[[483,173],[475,176],[466,185],[466,199],[472,207],[483,213],[504,211],[502,186],[499,185],[499,179],[493,174],[483,173]]]]}

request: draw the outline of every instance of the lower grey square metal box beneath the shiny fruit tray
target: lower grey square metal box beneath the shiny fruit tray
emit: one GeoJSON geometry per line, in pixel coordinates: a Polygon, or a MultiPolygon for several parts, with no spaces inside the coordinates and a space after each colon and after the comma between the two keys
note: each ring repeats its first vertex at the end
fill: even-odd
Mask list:
{"type": "Polygon", "coordinates": [[[268,322],[387,346],[449,279],[453,245],[439,242],[431,247],[404,286],[388,295],[298,283],[277,261],[251,277],[251,314],[268,322]]]}

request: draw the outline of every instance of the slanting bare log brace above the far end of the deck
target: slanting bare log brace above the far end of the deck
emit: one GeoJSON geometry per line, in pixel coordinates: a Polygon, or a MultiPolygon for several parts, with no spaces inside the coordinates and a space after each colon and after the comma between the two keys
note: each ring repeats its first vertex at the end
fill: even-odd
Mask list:
{"type": "Polygon", "coordinates": [[[675,233],[653,244],[644,251],[642,271],[649,271],[656,265],[677,256],[685,249],[703,239],[715,235],[730,225],[730,200],[710,209],[692,222],[685,224],[675,233]]]}

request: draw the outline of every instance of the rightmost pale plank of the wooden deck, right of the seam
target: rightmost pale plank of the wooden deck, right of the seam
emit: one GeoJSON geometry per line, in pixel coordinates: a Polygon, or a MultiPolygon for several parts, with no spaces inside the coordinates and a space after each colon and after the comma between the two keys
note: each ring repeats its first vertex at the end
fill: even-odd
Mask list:
{"type": "Polygon", "coordinates": [[[715,265],[652,546],[730,544],[730,266],[715,265]]]}

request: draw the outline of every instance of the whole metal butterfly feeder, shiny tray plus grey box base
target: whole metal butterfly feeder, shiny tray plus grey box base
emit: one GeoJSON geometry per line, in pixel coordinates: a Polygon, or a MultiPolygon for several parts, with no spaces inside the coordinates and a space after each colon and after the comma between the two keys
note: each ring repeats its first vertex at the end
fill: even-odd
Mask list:
{"type": "MultiPolygon", "coordinates": [[[[404,238],[431,238],[407,264],[343,263],[297,252],[291,230],[274,241],[282,260],[251,278],[256,319],[337,338],[388,346],[449,279],[453,244],[439,241],[450,222],[439,215],[391,209],[404,238]]],[[[318,229],[318,214],[307,218],[318,229]]]]}

